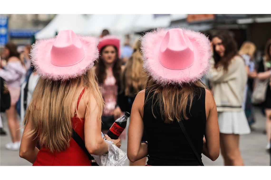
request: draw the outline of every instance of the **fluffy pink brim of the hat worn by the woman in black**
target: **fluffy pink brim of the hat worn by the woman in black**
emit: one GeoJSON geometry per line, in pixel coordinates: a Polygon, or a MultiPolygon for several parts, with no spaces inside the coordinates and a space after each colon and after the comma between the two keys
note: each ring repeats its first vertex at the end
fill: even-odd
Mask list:
{"type": "Polygon", "coordinates": [[[193,83],[204,76],[210,67],[211,46],[209,39],[200,32],[183,29],[191,40],[195,50],[195,61],[192,66],[173,70],[164,67],[158,60],[160,44],[167,30],[157,29],[146,33],[142,38],[143,67],[149,75],[162,86],[167,84],[193,83]]]}

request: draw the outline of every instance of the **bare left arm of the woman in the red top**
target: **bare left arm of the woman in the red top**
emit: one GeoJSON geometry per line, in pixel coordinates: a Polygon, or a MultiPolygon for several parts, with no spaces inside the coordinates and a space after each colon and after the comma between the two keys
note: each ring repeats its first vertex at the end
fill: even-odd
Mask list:
{"type": "Polygon", "coordinates": [[[19,155],[21,158],[24,158],[33,164],[37,158],[39,150],[36,147],[38,140],[35,138],[35,135],[29,137],[29,135],[26,134],[27,131],[31,130],[31,126],[31,121],[28,120],[25,124],[24,132],[22,134],[19,155]]]}

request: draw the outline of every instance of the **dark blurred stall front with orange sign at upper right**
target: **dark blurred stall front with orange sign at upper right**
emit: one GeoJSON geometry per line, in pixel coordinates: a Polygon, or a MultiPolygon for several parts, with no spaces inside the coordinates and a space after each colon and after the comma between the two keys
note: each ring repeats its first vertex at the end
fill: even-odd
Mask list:
{"type": "Polygon", "coordinates": [[[186,19],[172,21],[170,27],[185,27],[209,35],[229,30],[239,47],[249,40],[262,52],[271,38],[271,14],[189,14],[186,19]]]}

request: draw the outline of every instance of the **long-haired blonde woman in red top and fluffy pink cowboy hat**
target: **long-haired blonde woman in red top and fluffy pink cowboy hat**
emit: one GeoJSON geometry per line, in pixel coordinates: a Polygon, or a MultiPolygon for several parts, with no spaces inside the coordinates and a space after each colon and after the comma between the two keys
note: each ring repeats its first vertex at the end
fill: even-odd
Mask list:
{"type": "MultiPolygon", "coordinates": [[[[96,38],[72,30],[34,44],[31,61],[41,77],[26,111],[20,147],[20,157],[33,165],[90,166],[87,153],[72,138],[73,130],[90,154],[108,152],[101,137],[103,99],[92,68],[96,45],[96,38]]],[[[120,146],[119,139],[112,142],[120,146]]]]}

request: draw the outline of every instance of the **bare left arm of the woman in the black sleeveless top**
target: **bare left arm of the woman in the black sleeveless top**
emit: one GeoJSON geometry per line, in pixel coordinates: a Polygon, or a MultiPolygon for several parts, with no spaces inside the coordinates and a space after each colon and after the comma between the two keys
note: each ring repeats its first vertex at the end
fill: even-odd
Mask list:
{"type": "Polygon", "coordinates": [[[130,124],[128,130],[128,146],[127,157],[131,162],[135,162],[148,155],[148,146],[146,143],[141,143],[143,136],[143,106],[144,106],[145,90],[140,91],[135,97],[130,124]]]}

